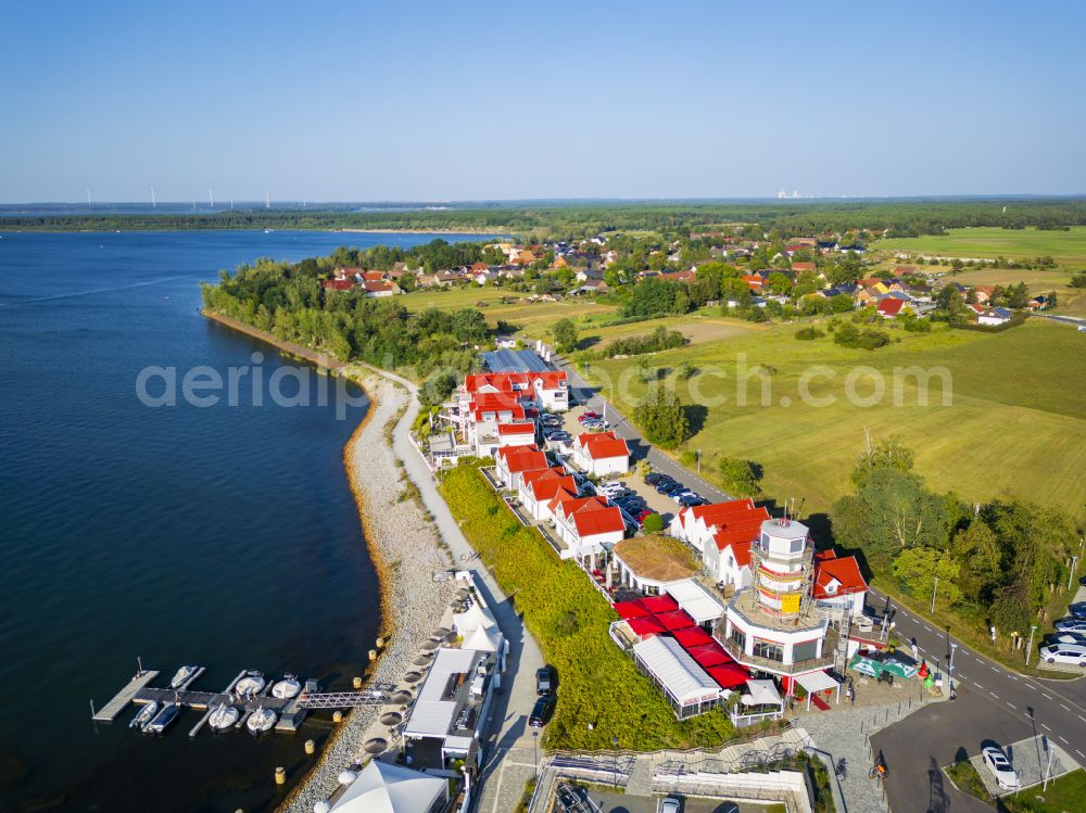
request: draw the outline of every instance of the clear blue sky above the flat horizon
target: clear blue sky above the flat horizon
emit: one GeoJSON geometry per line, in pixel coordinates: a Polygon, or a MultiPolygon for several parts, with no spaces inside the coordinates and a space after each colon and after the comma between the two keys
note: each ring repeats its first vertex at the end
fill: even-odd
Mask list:
{"type": "Polygon", "coordinates": [[[9,0],[0,202],[1083,193],[1084,30],[1075,2],[9,0]]]}

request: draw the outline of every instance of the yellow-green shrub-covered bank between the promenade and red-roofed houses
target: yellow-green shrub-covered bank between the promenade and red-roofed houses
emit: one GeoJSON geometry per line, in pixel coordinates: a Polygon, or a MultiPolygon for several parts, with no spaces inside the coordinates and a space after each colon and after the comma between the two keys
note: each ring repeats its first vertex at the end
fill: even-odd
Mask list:
{"type": "Polygon", "coordinates": [[[551,749],[716,747],[735,736],[714,710],[680,723],[664,695],[607,634],[618,619],[571,561],[560,561],[540,534],[521,525],[478,462],[446,471],[440,484],[460,530],[510,596],[547,663],[558,671],[558,704],[543,741],[551,749]],[[592,723],[592,729],[589,729],[592,723]]]}

